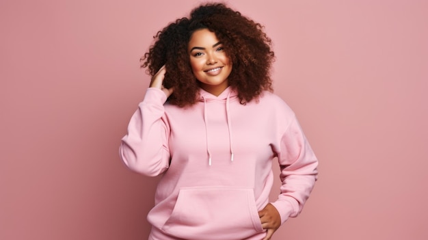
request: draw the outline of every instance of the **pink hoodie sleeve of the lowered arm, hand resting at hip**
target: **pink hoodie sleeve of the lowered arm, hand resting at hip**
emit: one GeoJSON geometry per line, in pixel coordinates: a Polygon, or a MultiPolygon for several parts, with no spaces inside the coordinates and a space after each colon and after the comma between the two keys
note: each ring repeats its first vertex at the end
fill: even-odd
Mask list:
{"type": "Polygon", "coordinates": [[[281,215],[282,224],[296,217],[303,209],[317,181],[318,160],[294,117],[280,139],[281,194],[273,202],[281,215]]]}

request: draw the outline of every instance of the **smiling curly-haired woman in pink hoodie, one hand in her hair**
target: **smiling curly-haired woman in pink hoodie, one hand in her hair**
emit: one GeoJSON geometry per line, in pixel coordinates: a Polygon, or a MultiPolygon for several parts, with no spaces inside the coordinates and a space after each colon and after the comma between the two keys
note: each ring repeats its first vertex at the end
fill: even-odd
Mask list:
{"type": "Polygon", "coordinates": [[[149,239],[271,239],[302,211],[318,164],[295,114],[271,93],[271,40],[220,3],[155,38],[142,58],[150,88],[120,146],[129,168],[162,174],[149,239]],[[269,203],[275,158],[282,186],[269,203]]]}

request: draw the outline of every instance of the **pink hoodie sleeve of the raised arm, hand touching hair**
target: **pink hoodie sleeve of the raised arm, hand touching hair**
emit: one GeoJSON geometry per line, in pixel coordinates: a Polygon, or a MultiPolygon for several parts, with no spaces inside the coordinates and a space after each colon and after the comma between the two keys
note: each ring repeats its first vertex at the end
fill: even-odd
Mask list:
{"type": "Polygon", "coordinates": [[[165,121],[165,94],[157,88],[148,88],[144,100],[133,114],[128,133],[120,144],[122,161],[135,172],[146,176],[157,176],[168,169],[170,151],[165,121]]]}

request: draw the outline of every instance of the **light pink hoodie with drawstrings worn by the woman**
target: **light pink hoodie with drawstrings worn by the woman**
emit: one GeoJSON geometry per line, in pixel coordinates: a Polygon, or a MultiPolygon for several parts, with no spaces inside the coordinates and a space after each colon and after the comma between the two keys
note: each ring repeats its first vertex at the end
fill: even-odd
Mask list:
{"type": "Polygon", "coordinates": [[[302,211],[318,161],[281,98],[263,92],[242,105],[229,87],[219,96],[201,89],[191,107],[165,101],[148,88],[120,146],[132,170],[163,174],[150,239],[263,239],[258,211],[269,202],[275,157],[282,186],[272,204],[282,223],[302,211]]]}

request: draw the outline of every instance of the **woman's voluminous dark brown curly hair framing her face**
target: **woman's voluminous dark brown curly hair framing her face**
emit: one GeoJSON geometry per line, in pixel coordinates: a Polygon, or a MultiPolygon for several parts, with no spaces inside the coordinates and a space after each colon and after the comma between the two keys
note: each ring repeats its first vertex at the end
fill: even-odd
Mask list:
{"type": "Polygon", "coordinates": [[[187,44],[199,29],[209,29],[222,42],[232,62],[228,84],[237,90],[242,104],[260,96],[263,90],[273,90],[270,69],[275,56],[263,26],[224,3],[206,3],[194,8],[189,18],[178,18],[159,31],[153,37],[155,43],[141,58],[142,68],[148,67],[150,76],[165,65],[163,85],[174,87],[171,104],[185,107],[197,101],[200,85],[191,71],[187,44]]]}

